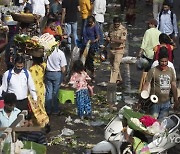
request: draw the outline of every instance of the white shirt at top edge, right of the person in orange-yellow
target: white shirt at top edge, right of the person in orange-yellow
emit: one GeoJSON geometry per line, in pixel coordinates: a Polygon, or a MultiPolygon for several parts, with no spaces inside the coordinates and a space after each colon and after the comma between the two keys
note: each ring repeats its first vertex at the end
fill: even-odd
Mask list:
{"type": "Polygon", "coordinates": [[[97,22],[104,22],[106,12],[106,0],[95,0],[93,5],[93,14],[97,22]]]}

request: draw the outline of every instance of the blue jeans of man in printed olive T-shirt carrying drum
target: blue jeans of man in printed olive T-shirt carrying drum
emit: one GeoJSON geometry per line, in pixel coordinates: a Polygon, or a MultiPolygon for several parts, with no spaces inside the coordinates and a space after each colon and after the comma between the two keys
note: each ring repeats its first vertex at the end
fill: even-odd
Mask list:
{"type": "Polygon", "coordinates": [[[150,114],[158,120],[162,120],[164,117],[168,116],[170,106],[170,101],[160,104],[153,104],[150,108],[150,114]]]}

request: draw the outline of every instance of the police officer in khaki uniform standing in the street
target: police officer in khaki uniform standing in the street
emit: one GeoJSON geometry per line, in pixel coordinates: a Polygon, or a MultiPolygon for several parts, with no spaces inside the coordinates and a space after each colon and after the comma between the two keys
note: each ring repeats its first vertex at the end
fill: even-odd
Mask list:
{"type": "Polygon", "coordinates": [[[115,17],[110,26],[109,36],[106,40],[110,43],[109,59],[112,65],[110,83],[122,82],[120,63],[124,54],[127,29],[121,24],[120,19],[115,17]]]}

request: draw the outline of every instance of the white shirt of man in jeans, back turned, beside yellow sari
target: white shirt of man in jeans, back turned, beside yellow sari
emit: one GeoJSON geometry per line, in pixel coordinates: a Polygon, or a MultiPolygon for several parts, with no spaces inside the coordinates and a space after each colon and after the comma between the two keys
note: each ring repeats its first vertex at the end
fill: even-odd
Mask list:
{"type": "Polygon", "coordinates": [[[47,71],[58,72],[61,71],[61,67],[67,65],[66,57],[64,52],[62,52],[58,47],[50,54],[47,60],[47,71]]]}

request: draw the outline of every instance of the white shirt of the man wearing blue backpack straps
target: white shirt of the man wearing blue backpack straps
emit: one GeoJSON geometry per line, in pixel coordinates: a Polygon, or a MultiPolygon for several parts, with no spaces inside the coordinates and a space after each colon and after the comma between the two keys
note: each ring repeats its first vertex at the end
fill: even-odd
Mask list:
{"type": "MultiPolygon", "coordinates": [[[[17,100],[23,100],[28,97],[28,92],[30,92],[31,96],[33,97],[34,101],[37,101],[37,94],[35,85],[31,76],[31,73],[28,71],[29,77],[27,79],[26,74],[24,73],[24,70],[22,70],[19,74],[16,74],[14,72],[14,69],[12,69],[11,73],[11,79],[9,81],[9,86],[7,83],[7,77],[8,77],[9,70],[6,71],[2,78],[2,90],[7,91],[8,93],[14,93],[17,97],[17,100]]],[[[2,95],[2,93],[0,94],[2,95]]]]}

